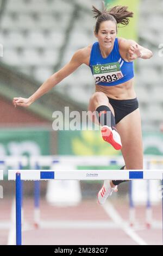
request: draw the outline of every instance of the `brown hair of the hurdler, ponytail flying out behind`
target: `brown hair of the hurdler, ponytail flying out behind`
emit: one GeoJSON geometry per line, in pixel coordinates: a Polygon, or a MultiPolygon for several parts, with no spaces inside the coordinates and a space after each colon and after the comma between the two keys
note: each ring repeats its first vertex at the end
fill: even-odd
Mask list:
{"type": "Polygon", "coordinates": [[[127,26],[129,23],[129,17],[133,17],[133,12],[127,10],[128,7],[116,5],[107,10],[103,2],[103,10],[98,10],[94,5],[92,5],[92,12],[95,14],[94,18],[97,19],[95,26],[95,33],[98,34],[99,27],[103,21],[112,21],[116,24],[122,24],[127,26]]]}

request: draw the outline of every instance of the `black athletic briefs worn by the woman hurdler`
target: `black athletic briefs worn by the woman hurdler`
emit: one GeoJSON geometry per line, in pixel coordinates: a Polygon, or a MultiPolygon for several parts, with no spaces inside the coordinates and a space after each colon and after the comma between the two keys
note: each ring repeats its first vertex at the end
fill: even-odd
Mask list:
{"type": "Polygon", "coordinates": [[[126,115],[139,108],[137,98],[131,100],[114,100],[108,97],[109,103],[114,108],[115,123],[119,123],[126,115]]]}

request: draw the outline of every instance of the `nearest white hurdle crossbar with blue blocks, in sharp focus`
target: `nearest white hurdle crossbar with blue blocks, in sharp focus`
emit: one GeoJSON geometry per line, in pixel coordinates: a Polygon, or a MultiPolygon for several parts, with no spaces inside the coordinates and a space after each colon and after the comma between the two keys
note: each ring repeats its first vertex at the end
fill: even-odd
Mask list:
{"type": "Polygon", "coordinates": [[[162,180],[163,170],[9,170],[8,180],[162,180]]]}

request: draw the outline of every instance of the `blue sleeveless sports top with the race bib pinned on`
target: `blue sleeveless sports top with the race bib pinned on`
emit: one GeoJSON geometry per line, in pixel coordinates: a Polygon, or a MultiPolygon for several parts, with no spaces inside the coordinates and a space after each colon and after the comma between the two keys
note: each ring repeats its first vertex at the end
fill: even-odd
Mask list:
{"type": "Polygon", "coordinates": [[[134,77],[134,63],[121,58],[117,38],[107,58],[102,57],[99,43],[95,42],[92,45],[89,66],[95,83],[99,86],[116,86],[134,77]]]}

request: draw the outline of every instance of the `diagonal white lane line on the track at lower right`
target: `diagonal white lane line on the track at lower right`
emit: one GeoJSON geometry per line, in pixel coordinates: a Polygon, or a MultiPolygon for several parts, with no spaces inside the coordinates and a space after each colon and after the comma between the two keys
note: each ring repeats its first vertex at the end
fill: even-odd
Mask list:
{"type": "Polygon", "coordinates": [[[117,224],[119,227],[133,239],[138,245],[147,245],[147,243],[135,233],[133,229],[122,219],[118,214],[114,206],[108,201],[103,205],[103,208],[108,216],[117,224]]]}

